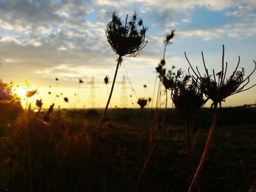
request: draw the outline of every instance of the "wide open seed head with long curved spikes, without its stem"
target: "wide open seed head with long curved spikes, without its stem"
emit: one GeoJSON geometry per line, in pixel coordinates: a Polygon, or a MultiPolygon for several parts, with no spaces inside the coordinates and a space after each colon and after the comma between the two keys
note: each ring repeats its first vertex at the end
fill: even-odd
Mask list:
{"type": "Polygon", "coordinates": [[[221,102],[225,101],[225,99],[228,96],[240,93],[242,91],[246,91],[249,88],[252,88],[256,85],[254,84],[249,88],[245,88],[245,86],[249,83],[249,77],[255,72],[255,61],[255,68],[246,78],[244,78],[244,68],[238,70],[238,66],[240,64],[240,57],[238,56],[238,64],[236,65],[236,69],[233,71],[230,77],[226,78],[227,62],[225,63],[224,61],[224,55],[225,47],[224,45],[222,45],[222,71],[215,74],[213,69],[213,74],[211,75],[208,74],[208,69],[206,68],[202,52],[203,66],[206,70],[206,74],[201,75],[197,69],[197,66],[196,71],[195,69],[193,69],[185,52],[185,57],[187,58],[189,66],[191,67],[193,72],[193,74],[190,74],[190,76],[192,77],[192,80],[195,82],[195,86],[206,95],[207,99],[211,99],[213,101],[211,106],[217,106],[217,104],[219,104],[219,106],[221,107],[221,102]]]}

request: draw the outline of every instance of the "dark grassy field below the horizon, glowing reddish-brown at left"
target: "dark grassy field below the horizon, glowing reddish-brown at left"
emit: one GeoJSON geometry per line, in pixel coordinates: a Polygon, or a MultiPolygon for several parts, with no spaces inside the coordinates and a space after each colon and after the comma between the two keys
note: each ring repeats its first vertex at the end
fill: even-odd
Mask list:
{"type": "MultiPolygon", "coordinates": [[[[50,123],[23,112],[1,123],[0,191],[187,191],[187,142],[175,110],[55,110],[50,123]],[[155,125],[154,133],[151,130],[155,125]],[[150,139],[152,138],[152,139],[150,139]],[[151,140],[151,142],[150,142],[151,140]]],[[[248,191],[256,178],[255,108],[219,111],[199,177],[201,191],[248,191]]],[[[190,123],[194,167],[211,110],[190,123]]]]}

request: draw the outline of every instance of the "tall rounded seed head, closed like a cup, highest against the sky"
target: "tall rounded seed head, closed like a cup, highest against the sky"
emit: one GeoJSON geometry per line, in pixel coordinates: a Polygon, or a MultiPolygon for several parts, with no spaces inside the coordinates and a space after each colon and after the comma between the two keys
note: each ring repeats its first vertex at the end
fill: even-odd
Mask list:
{"type": "Polygon", "coordinates": [[[106,37],[113,51],[120,56],[135,57],[140,50],[146,46],[145,35],[147,27],[143,26],[143,20],[139,19],[137,13],[125,23],[113,12],[112,20],[105,30],[106,37]]]}

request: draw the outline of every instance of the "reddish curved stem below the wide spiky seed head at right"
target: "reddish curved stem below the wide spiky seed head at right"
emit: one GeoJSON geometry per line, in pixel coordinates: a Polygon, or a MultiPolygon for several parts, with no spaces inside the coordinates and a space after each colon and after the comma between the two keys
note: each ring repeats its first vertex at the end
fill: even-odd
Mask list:
{"type": "Polygon", "coordinates": [[[211,139],[212,139],[212,137],[214,135],[214,129],[216,127],[217,106],[218,106],[218,104],[214,104],[214,117],[213,117],[213,120],[211,122],[211,128],[210,128],[210,131],[209,131],[209,134],[208,134],[208,139],[206,141],[206,147],[205,147],[205,149],[203,151],[203,155],[202,155],[202,158],[200,160],[200,164],[197,167],[197,171],[195,172],[195,175],[193,177],[192,183],[189,186],[188,192],[192,192],[193,191],[193,188],[195,187],[195,184],[197,183],[197,178],[198,178],[201,170],[203,169],[203,164],[206,161],[206,156],[208,154],[208,150],[209,150],[209,147],[211,145],[211,139]]]}

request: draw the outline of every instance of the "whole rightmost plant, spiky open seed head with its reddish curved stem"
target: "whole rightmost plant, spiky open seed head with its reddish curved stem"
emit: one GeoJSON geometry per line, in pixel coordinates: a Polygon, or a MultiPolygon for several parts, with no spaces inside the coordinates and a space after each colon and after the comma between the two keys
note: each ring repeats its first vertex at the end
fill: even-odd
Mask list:
{"type": "MultiPolygon", "coordinates": [[[[201,54],[203,58],[203,52],[201,52],[201,54]]],[[[187,58],[186,52],[185,52],[185,57],[187,58]]],[[[213,101],[213,103],[211,104],[211,107],[214,108],[214,117],[211,122],[211,128],[208,134],[206,147],[204,149],[203,156],[200,160],[200,164],[197,167],[197,171],[195,172],[195,176],[189,187],[189,191],[193,190],[195,183],[197,182],[197,177],[199,176],[200,171],[203,168],[203,164],[206,160],[206,155],[208,153],[208,149],[211,144],[211,139],[214,134],[214,129],[216,127],[218,104],[221,107],[221,102],[225,101],[225,99],[228,96],[234,95],[236,93],[241,93],[256,85],[254,84],[252,86],[249,86],[249,88],[246,88],[246,85],[248,85],[250,80],[249,77],[251,77],[251,75],[255,72],[255,69],[256,69],[255,61],[254,61],[255,68],[247,77],[244,77],[245,75],[244,68],[242,68],[241,71],[238,70],[238,66],[240,64],[240,57],[238,56],[238,64],[236,65],[236,69],[233,71],[230,77],[226,78],[227,62],[224,61],[224,57],[225,57],[225,47],[224,45],[222,45],[222,71],[215,74],[213,69],[212,75],[208,73],[208,69],[206,68],[205,60],[203,58],[203,66],[206,71],[206,74],[203,74],[203,76],[200,74],[199,70],[197,69],[197,66],[195,71],[195,69],[190,64],[189,59],[187,58],[189,66],[191,67],[193,72],[193,74],[190,74],[190,76],[192,77],[192,80],[195,82],[196,88],[198,88],[203,94],[205,94],[207,99],[211,99],[211,101],[213,101]]]]}

